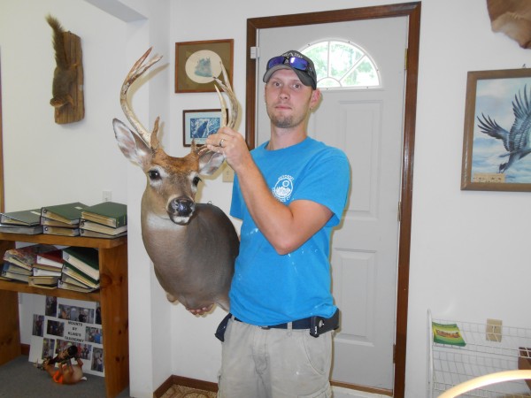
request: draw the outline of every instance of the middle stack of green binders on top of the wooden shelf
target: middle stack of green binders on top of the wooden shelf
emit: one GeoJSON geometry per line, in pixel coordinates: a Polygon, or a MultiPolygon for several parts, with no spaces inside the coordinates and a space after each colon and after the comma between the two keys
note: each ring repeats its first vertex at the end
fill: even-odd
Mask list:
{"type": "Polygon", "coordinates": [[[55,204],[41,209],[42,233],[79,236],[81,211],[88,206],[81,202],[55,204]]]}

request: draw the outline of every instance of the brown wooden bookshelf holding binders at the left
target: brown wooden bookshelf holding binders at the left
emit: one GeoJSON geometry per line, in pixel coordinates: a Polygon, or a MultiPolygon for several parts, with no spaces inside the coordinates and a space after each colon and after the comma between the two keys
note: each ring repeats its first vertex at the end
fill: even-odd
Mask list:
{"type": "Polygon", "coordinates": [[[0,364],[21,355],[18,294],[53,295],[99,302],[104,335],[104,371],[107,397],[115,397],[129,385],[129,316],[127,293],[127,237],[97,239],[49,234],[0,233],[0,256],[15,242],[48,243],[99,249],[100,289],[79,293],[42,289],[25,283],[0,280],[0,364]]]}

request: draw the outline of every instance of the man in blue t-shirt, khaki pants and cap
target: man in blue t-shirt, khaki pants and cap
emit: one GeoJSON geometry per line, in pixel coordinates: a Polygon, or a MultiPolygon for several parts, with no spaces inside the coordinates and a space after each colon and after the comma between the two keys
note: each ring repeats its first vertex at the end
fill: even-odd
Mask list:
{"type": "Polygon", "coordinates": [[[224,127],[206,140],[235,170],[230,213],[242,219],[230,288],[219,397],[330,397],[330,233],[350,185],[344,153],[306,132],[320,101],[312,60],[290,50],[267,63],[271,138],[251,152],[224,127]]]}

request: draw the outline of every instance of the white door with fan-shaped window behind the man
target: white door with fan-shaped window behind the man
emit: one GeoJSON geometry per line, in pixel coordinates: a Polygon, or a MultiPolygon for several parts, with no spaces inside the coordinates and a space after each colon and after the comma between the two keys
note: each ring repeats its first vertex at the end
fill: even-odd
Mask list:
{"type": "Polygon", "coordinates": [[[260,29],[257,142],[270,133],[261,83],[267,60],[330,39],[365,50],[381,77],[381,88],[323,90],[308,126],[313,138],[343,149],[352,169],[331,249],[333,293],[342,310],[332,379],[392,390],[407,18],[260,29]]]}

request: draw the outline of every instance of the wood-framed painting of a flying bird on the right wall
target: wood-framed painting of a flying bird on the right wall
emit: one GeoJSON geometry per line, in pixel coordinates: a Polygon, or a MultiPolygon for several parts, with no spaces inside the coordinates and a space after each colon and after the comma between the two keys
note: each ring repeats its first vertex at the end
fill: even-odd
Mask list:
{"type": "Polygon", "coordinates": [[[531,69],[469,72],[461,189],[531,191],[531,69]]]}

